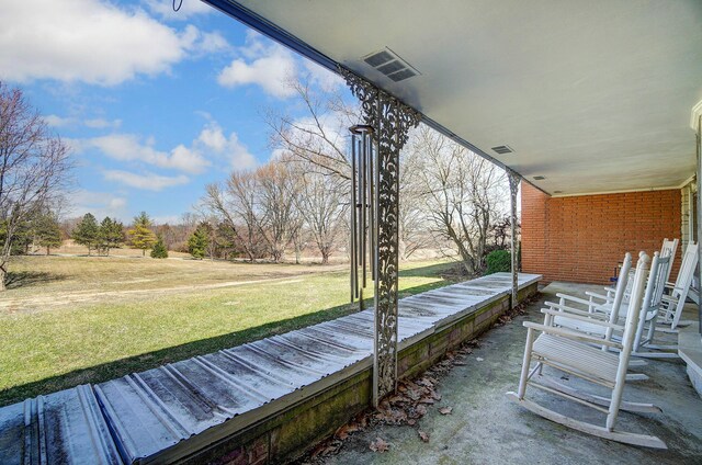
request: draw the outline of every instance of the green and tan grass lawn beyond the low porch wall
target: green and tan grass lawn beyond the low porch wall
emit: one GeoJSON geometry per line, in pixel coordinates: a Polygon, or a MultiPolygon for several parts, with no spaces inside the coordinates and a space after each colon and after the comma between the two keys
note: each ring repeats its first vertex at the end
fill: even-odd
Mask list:
{"type": "MultiPolygon", "coordinates": [[[[404,263],[400,296],[449,284],[452,266],[404,263]]],[[[0,303],[0,405],[348,315],[343,268],[23,258],[0,303]]]]}

